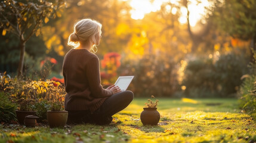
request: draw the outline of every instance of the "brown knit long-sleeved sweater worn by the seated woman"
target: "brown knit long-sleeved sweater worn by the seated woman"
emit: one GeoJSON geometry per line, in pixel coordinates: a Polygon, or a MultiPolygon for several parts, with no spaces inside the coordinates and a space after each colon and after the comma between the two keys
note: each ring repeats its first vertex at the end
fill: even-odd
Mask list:
{"type": "Polygon", "coordinates": [[[98,57],[87,49],[71,49],[64,57],[63,76],[67,111],[97,110],[113,92],[103,89],[98,57]]]}

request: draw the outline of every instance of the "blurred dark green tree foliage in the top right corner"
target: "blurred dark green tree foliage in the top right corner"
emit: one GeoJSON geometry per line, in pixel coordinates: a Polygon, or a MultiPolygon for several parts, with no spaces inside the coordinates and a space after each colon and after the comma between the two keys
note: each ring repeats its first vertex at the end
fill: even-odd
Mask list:
{"type": "MultiPolygon", "coordinates": [[[[256,1],[255,0],[215,0],[211,9],[212,17],[221,30],[233,38],[251,39],[256,49],[256,1]]],[[[251,61],[253,53],[251,54],[251,61]]]]}

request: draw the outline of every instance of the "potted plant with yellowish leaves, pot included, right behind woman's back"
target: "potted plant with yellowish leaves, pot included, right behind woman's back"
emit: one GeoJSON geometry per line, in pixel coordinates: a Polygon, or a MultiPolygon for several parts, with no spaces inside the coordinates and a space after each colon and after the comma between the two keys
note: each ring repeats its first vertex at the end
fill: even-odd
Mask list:
{"type": "Polygon", "coordinates": [[[48,94],[50,104],[50,110],[47,111],[48,125],[51,128],[61,128],[67,123],[68,112],[64,111],[64,95],[66,92],[59,82],[51,81],[51,84],[54,86],[50,88],[51,92],[48,94]]]}

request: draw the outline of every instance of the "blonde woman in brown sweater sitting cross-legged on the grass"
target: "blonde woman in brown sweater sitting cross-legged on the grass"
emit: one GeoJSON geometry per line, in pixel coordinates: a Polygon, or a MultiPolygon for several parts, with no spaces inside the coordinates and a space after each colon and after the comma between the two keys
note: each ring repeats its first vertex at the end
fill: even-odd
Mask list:
{"type": "Polygon", "coordinates": [[[101,24],[91,19],[78,21],[69,36],[73,46],[64,57],[63,76],[66,89],[65,110],[69,111],[67,123],[95,123],[107,125],[112,116],[123,110],[133,100],[131,91],[122,91],[112,85],[103,89],[97,55],[90,52],[100,44],[101,24]]]}

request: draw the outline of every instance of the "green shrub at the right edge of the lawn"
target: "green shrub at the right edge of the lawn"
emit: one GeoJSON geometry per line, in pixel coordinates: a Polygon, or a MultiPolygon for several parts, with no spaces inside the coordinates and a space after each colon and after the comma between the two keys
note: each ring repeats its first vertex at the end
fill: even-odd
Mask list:
{"type": "Polygon", "coordinates": [[[249,64],[250,74],[242,77],[240,86],[240,108],[248,113],[256,113],[256,51],[254,51],[254,63],[249,64]]]}

